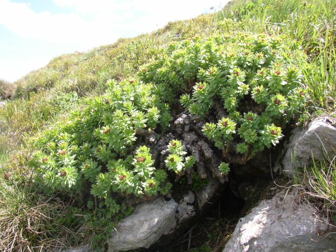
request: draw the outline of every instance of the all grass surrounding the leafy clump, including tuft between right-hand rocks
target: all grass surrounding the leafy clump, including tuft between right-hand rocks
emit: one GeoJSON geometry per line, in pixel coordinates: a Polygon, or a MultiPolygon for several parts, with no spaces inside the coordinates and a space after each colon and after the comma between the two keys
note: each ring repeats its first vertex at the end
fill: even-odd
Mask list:
{"type": "MultiPolygon", "coordinates": [[[[85,106],[81,100],[103,94],[108,79],[134,76],[169,43],[215,33],[234,36],[237,31],[285,34],[299,43],[308,59],[299,62],[310,96],[305,116],[335,113],[335,0],[237,0],[215,14],[171,22],[151,34],[120,39],[87,53],[61,55],[15,83],[0,81],[0,99],[11,98],[0,108],[0,250],[40,251],[79,239],[67,231],[64,219],[58,219],[72,208],[55,193],[35,188],[29,179],[26,165],[32,150],[26,143],[31,136],[85,106]],[[72,92],[79,101],[71,100],[72,92]],[[21,178],[5,180],[4,172],[21,178]]],[[[334,214],[330,209],[335,207],[335,170],[335,159],[314,162],[300,180],[310,196],[334,214]]],[[[85,229],[82,239],[93,242],[104,232],[95,225],[72,228],[79,233],[85,229]]]]}

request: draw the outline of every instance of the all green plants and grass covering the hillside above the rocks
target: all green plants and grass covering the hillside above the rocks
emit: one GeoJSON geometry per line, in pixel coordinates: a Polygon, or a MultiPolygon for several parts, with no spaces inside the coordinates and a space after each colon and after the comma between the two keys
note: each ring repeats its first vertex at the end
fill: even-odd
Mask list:
{"type": "MultiPolygon", "coordinates": [[[[204,178],[178,139],[153,156],[149,139],[174,135],[183,111],[242,163],[289,124],[333,115],[335,17],[333,0],[235,1],[1,81],[0,250],[102,248],[132,202],[204,178]]],[[[218,179],[234,162],[221,161],[218,179]]]]}

